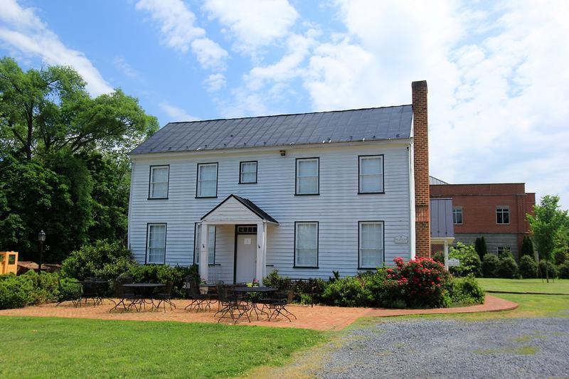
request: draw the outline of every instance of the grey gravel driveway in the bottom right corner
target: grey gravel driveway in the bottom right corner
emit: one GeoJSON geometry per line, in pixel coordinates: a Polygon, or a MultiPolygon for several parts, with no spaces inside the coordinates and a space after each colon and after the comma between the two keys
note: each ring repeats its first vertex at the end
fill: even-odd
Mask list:
{"type": "Polygon", "coordinates": [[[318,378],[567,378],[569,319],[383,321],[350,331],[318,378]]]}

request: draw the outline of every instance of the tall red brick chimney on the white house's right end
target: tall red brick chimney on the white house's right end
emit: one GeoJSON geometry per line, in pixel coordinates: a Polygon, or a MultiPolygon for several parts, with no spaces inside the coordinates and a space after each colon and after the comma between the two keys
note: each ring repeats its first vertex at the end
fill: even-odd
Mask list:
{"type": "Polygon", "coordinates": [[[427,81],[413,82],[411,87],[413,89],[413,170],[415,173],[415,256],[430,257],[427,81]]]}

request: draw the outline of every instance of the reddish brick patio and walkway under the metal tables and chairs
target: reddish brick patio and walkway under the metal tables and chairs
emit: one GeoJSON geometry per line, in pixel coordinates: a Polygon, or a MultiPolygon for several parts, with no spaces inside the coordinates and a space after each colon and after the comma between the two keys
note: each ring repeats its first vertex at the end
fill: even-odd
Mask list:
{"type": "MultiPolygon", "coordinates": [[[[174,303],[177,309],[170,311],[166,307],[164,311],[150,311],[149,309],[141,312],[127,311],[123,313],[109,313],[109,309],[113,306],[112,302],[105,300],[99,306],[80,306],[75,308],[70,303],[62,304],[58,307],[55,304],[44,304],[41,306],[28,306],[21,309],[6,309],[0,311],[0,316],[41,316],[41,317],[70,317],[75,319],[105,319],[105,320],[134,320],[134,321],[179,321],[179,322],[217,322],[218,319],[213,317],[215,312],[196,312],[184,311],[184,306],[188,304],[188,300],[176,300],[174,303]]],[[[515,309],[518,304],[497,297],[486,295],[486,302],[477,306],[465,306],[460,308],[441,308],[441,309],[373,309],[373,308],[340,308],[337,306],[299,306],[291,305],[289,310],[297,316],[297,320],[292,319],[289,322],[282,317],[276,321],[267,321],[266,317],[257,321],[253,314],[251,324],[247,319],[241,319],[239,324],[242,325],[260,325],[260,326],[277,326],[277,327],[293,327],[304,329],[317,329],[324,331],[337,331],[349,326],[356,319],[363,316],[404,316],[409,314],[450,314],[450,313],[472,313],[485,311],[506,311],[515,309]]],[[[213,305],[212,309],[217,306],[213,305]]],[[[229,321],[222,321],[229,323],[229,321]]]]}

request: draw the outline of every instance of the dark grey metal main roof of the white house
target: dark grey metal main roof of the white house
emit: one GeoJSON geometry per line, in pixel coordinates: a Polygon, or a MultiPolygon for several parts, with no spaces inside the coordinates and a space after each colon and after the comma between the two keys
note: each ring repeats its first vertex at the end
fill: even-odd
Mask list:
{"type": "Polygon", "coordinates": [[[408,139],[411,105],[170,122],[131,154],[408,139]]]}

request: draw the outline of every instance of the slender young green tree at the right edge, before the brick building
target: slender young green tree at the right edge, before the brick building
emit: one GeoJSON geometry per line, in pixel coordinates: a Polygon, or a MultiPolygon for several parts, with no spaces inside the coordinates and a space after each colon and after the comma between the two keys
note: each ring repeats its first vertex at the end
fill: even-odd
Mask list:
{"type": "MultiPolygon", "coordinates": [[[[567,210],[561,210],[559,196],[546,195],[541,198],[539,205],[533,206],[535,215],[527,215],[533,240],[541,260],[552,263],[555,235],[566,228],[569,222],[567,210]]],[[[549,282],[548,270],[546,279],[549,282]]]]}

